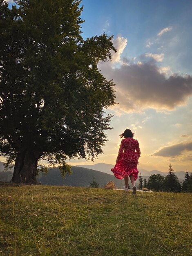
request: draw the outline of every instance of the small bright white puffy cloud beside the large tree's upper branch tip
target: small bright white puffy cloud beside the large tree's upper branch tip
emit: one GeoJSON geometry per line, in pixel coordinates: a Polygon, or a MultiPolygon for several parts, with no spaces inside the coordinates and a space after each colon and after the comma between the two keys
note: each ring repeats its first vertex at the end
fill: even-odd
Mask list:
{"type": "Polygon", "coordinates": [[[113,42],[114,46],[117,49],[117,52],[112,52],[112,64],[114,62],[120,62],[121,59],[121,54],[123,53],[123,50],[125,49],[126,45],[127,45],[127,39],[121,36],[118,36],[114,42],[113,42]]]}

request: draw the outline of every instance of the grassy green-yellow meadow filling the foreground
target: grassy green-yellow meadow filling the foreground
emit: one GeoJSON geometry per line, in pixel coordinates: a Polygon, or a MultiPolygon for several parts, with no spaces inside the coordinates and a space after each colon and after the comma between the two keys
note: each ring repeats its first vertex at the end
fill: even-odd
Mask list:
{"type": "Polygon", "coordinates": [[[192,194],[0,186],[0,255],[192,255],[192,194]]]}

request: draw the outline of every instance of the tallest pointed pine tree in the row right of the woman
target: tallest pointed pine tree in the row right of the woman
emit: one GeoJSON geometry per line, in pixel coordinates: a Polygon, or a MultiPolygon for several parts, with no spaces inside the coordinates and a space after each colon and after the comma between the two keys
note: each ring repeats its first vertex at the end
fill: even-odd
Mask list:
{"type": "Polygon", "coordinates": [[[165,190],[167,192],[181,192],[181,184],[178,177],[174,174],[172,165],[169,165],[168,173],[165,178],[165,190]]]}

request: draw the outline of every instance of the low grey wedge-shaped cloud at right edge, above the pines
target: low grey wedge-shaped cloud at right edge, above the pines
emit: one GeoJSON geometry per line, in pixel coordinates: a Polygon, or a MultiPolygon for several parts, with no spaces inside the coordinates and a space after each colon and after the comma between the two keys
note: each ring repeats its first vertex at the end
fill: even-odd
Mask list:
{"type": "Polygon", "coordinates": [[[152,155],[161,157],[176,157],[182,155],[182,152],[185,150],[192,151],[192,141],[183,141],[172,146],[165,146],[163,148],[160,148],[152,155]]]}

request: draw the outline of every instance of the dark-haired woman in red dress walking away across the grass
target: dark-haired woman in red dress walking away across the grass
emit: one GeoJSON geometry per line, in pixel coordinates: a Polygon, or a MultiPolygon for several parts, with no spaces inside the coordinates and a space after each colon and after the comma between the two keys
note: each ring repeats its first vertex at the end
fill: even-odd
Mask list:
{"type": "Polygon", "coordinates": [[[134,133],[132,133],[132,131],[129,129],[125,130],[125,132],[119,136],[124,139],[121,141],[118,157],[116,159],[116,165],[111,170],[116,178],[124,178],[125,186],[123,186],[123,188],[125,191],[128,191],[128,181],[130,178],[133,185],[133,194],[136,194],[135,181],[139,173],[137,170],[137,164],[138,158],[141,156],[139,144],[136,139],[133,139],[134,133]]]}

